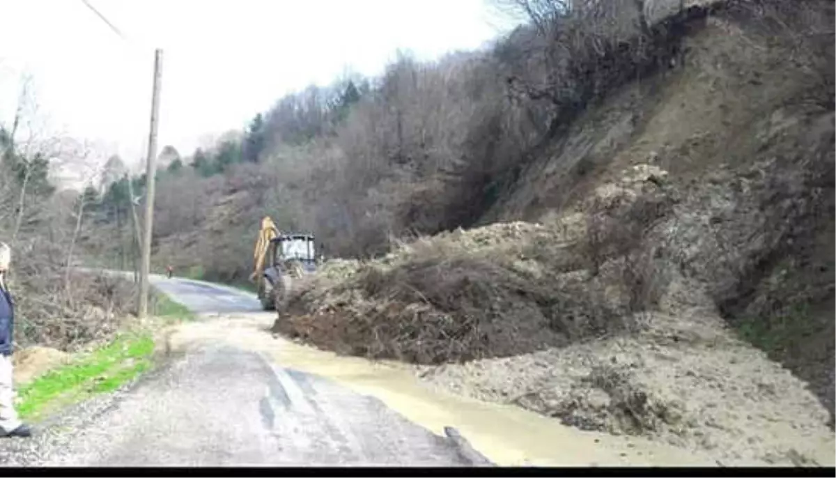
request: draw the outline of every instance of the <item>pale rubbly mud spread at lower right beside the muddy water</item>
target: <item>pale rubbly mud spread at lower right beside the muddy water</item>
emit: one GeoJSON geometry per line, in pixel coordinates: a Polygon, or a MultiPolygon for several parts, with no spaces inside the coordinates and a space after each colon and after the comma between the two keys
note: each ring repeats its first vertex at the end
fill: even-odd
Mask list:
{"type": "Polygon", "coordinates": [[[720,323],[682,333],[681,318],[645,320],[656,333],[442,365],[423,379],[582,430],[707,450],[726,464],[833,464],[828,411],[788,369],[720,323]]]}

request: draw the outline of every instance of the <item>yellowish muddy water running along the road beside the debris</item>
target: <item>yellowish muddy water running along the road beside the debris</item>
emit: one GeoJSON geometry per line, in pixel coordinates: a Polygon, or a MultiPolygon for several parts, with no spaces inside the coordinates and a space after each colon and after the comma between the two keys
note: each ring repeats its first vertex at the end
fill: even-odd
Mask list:
{"type": "Polygon", "coordinates": [[[266,332],[270,325],[272,318],[263,314],[186,323],[171,334],[170,345],[182,348],[190,343],[222,341],[267,353],[283,367],[374,396],[438,435],[444,435],[445,426],[452,426],[473,448],[501,466],[717,465],[696,451],[637,437],[584,432],[511,405],[488,404],[431,389],[408,365],[338,356],[273,338],[266,332]]]}

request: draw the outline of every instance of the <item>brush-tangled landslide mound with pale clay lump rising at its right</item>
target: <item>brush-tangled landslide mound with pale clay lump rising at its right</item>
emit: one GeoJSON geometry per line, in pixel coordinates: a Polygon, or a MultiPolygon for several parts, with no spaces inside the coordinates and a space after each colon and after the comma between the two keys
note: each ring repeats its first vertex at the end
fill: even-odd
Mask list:
{"type": "Polygon", "coordinates": [[[589,241],[571,242],[568,228],[587,227],[573,216],[459,230],[404,244],[378,262],[326,265],[318,279],[326,284],[294,297],[278,331],[344,353],[440,364],[627,330],[633,324],[621,318],[644,310],[655,292],[641,257],[624,257],[644,232],[628,226],[638,216],[650,227],[664,215],[669,201],[655,191],[663,177],[637,168],[624,186],[603,188],[584,214],[596,218],[594,234],[583,234],[589,241]]]}

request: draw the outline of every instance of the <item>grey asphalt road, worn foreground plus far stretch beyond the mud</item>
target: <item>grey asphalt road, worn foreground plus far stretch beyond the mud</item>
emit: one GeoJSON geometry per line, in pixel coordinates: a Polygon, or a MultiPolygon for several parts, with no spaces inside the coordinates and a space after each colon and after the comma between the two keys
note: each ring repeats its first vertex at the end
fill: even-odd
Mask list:
{"type": "MultiPolygon", "coordinates": [[[[186,279],[156,287],[201,320],[262,313],[252,294],[186,279]],[[218,314],[218,315],[216,315],[218,314]],[[214,317],[213,317],[214,316],[214,317]]],[[[80,414],[79,414],[80,416],[80,414]]],[[[449,438],[448,436],[454,437],[449,438]]],[[[0,444],[8,465],[486,465],[380,400],[207,338],[129,391],[38,438],[0,444]],[[70,425],[68,425],[68,423],[70,425]],[[28,456],[15,460],[15,453],[28,456]]]]}

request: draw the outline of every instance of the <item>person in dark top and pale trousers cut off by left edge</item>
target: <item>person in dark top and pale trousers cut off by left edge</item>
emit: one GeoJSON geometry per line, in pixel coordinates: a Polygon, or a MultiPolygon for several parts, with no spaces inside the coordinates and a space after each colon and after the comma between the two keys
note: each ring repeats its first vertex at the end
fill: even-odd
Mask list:
{"type": "Polygon", "coordinates": [[[6,287],[6,272],[12,262],[12,249],[0,242],[0,437],[29,436],[32,430],[18,420],[14,409],[13,332],[14,304],[6,287]]]}

